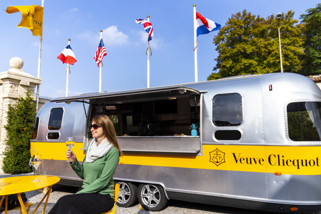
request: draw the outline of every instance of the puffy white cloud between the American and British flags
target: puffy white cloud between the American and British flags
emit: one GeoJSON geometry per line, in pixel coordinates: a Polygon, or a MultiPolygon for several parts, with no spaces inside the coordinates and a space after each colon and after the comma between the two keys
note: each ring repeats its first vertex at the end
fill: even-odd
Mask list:
{"type": "Polygon", "coordinates": [[[105,45],[123,45],[129,43],[129,36],[119,31],[115,25],[102,31],[102,39],[105,45]]]}

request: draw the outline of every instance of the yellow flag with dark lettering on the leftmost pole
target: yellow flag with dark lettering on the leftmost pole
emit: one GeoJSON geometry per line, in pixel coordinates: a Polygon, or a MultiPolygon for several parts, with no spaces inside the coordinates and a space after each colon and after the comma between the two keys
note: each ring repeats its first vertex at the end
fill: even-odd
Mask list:
{"type": "Polygon", "coordinates": [[[18,28],[28,28],[32,31],[33,36],[39,35],[40,40],[42,40],[43,7],[38,5],[10,6],[5,12],[15,13],[18,11],[22,13],[22,20],[20,24],[18,24],[18,28]]]}

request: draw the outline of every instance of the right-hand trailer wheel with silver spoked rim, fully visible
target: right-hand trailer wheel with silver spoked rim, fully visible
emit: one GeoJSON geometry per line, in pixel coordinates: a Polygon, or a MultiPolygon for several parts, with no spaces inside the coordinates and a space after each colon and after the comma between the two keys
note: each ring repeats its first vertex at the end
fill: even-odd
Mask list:
{"type": "Polygon", "coordinates": [[[153,184],[140,184],[138,187],[138,201],[145,210],[159,211],[167,204],[163,187],[153,184]]]}

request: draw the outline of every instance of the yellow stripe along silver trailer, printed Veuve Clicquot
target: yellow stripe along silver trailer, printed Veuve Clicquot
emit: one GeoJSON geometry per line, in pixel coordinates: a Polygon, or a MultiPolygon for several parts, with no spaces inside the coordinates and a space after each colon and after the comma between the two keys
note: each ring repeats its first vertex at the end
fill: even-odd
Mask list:
{"type": "MultiPolygon", "coordinates": [[[[79,161],[84,158],[83,143],[73,151],[79,161]]],[[[31,142],[44,159],[65,160],[64,142],[31,142]]],[[[183,167],[212,170],[320,175],[321,146],[247,146],[203,145],[203,156],[126,153],[120,163],[162,167],[183,167]]]]}

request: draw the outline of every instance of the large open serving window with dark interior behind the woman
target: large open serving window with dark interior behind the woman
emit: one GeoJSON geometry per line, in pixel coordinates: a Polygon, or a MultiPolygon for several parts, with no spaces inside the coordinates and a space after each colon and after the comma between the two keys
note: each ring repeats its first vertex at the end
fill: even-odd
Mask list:
{"type": "Polygon", "coordinates": [[[97,103],[91,118],[108,115],[119,137],[191,136],[191,124],[200,124],[200,95],[176,95],[97,103]]]}

